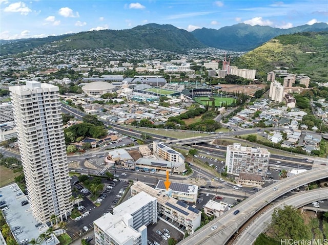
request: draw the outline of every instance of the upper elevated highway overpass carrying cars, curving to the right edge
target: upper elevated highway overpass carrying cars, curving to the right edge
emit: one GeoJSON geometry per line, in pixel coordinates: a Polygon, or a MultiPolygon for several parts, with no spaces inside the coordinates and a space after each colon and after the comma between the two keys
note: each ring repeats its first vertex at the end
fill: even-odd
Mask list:
{"type": "Polygon", "coordinates": [[[217,244],[218,241],[220,244],[225,244],[244,222],[279,196],[299,186],[325,178],[328,178],[328,167],[322,166],[278,181],[247,198],[222,216],[215,218],[178,244],[217,244]],[[274,190],[274,188],[277,189],[274,190]],[[240,212],[234,215],[233,212],[237,209],[240,212]],[[212,231],[211,228],[214,225],[217,228],[212,231]]]}

